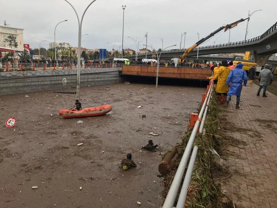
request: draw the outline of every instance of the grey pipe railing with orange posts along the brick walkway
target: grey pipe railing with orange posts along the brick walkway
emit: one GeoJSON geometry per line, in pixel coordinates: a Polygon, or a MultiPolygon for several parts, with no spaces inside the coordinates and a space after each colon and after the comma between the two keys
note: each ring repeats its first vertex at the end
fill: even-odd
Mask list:
{"type": "Polygon", "coordinates": [[[196,154],[198,151],[198,147],[194,146],[192,150],[192,146],[195,140],[196,133],[201,133],[203,131],[205,118],[207,115],[207,110],[209,106],[209,101],[212,97],[212,89],[213,89],[214,82],[210,81],[209,85],[207,86],[207,93],[202,95],[202,107],[199,112],[199,114],[191,114],[190,116],[190,129],[192,129],[192,132],[190,134],[190,138],[188,140],[188,143],[186,145],[184,154],[181,158],[180,164],[177,168],[177,171],[175,173],[175,176],[173,178],[173,181],[171,183],[169,192],[166,196],[166,199],[164,200],[163,208],[173,208],[179,187],[181,185],[181,181],[184,177],[184,172],[186,170],[186,165],[188,163],[188,159],[190,157],[190,161],[188,164],[188,168],[186,171],[186,175],[184,177],[184,182],[181,187],[181,192],[179,194],[179,198],[177,201],[176,208],[184,208],[184,205],[186,203],[186,198],[188,194],[188,188],[190,184],[190,179],[193,172],[193,167],[196,159],[196,154]],[[199,128],[200,125],[200,128],[199,128]],[[191,153],[192,151],[192,153],[191,153]],[[191,154],[190,154],[191,153],[191,154]],[[191,156],[190,156],[191,155],[191,156]]]}

